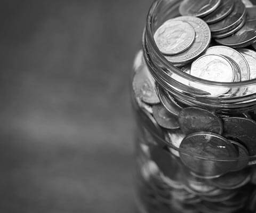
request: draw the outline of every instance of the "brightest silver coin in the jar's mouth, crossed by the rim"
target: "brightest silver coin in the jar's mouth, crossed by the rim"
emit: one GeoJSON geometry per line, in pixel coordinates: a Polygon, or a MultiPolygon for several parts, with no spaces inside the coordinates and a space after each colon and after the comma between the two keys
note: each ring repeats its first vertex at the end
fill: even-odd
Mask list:
{"type": "MultiPolygon", "coordinates": [[[[233,82],[235,79],[235,68],[224,56],[207,54],[192,63],[190,75],[210,81],[233,82]]],[[[230,90],[230,88],[198,85],[193,82],[190,85],[197,85],[197,88],[207,91],[214,96],[226,94],[230,90]]]]}

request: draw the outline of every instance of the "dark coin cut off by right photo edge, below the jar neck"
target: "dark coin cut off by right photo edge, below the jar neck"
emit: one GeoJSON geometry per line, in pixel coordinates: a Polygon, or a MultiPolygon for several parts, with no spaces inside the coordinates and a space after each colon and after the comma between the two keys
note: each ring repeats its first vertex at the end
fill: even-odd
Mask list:
{"type": "Polygon", "coordinates": [[[245,145],[250,155],[256,154],[256,122],[252,119],[223,118],[223,136],[245,145]]]}

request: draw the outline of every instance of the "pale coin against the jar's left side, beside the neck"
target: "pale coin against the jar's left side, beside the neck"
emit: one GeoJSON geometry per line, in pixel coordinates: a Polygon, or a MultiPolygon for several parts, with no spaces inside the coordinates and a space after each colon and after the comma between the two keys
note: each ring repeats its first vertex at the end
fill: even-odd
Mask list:
{"type": "Polygon", "coordinates": [[[155,80],[150,75],[146,66],[135,73],[132,87],[136,97],[142,101],[149,104],[156,104],[160,102],[155,90],[155,80]]]}

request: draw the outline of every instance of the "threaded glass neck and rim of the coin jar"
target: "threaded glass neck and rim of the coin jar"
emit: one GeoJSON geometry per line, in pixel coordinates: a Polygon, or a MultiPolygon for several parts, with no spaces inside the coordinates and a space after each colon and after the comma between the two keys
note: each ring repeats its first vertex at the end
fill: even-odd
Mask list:
{"type": "Polygon", "coordinates": [[[256,93],[254,91],[256,91],[256,80],[238,83],[217,83],[202,80],[174,67],[158,50],[154,33],[164,21],[179,15],[179,3],[179,0],[155,1],[148,13],[142,39],[143,55],[156,83],[175,99],[187,105],[234,112],[255,110],[256,93]],[[216,95],[214,91],[218,89],[232,90],[233,94],[216,95]]]}

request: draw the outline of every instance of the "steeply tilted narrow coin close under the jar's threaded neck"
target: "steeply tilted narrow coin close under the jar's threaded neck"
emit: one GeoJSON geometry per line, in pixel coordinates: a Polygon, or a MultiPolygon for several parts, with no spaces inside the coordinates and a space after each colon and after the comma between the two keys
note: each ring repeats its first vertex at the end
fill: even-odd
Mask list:
{"type": "Polygon", "coordinates": [[[164,89],[159,85],[156,86],[156,91],[165,109],[175,116],[178,116],[183,108],[178,104],[175,104],[173,98],[171,96],[167,96],[164,89]]]}

